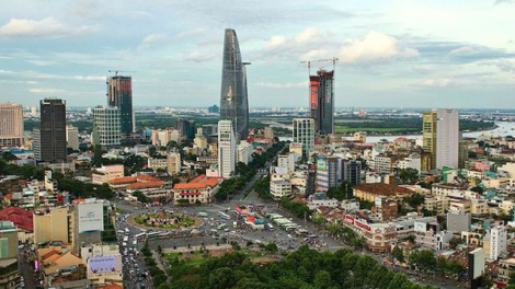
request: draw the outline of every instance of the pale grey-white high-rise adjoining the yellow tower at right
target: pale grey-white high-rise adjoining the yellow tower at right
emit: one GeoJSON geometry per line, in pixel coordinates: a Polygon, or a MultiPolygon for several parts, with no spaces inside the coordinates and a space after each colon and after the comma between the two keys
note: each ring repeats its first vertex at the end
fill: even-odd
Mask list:
{"type": "Polygon", "coordinates": [[[437,109],[436,118],[436,169],[458,167],[459,114],[453,109],[437,109]]]}

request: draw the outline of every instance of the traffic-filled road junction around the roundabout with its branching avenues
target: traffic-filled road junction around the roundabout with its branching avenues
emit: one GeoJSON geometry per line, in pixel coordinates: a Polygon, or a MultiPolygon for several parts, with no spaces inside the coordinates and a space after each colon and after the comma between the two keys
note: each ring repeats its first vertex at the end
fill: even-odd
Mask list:
{"type": "MultiPolygon", "coordinates": [[[[275,158],[274,158],[275,160],[275,158]]],[[[251,181],[238,193],[236,193],[232,196],[232,199],[229,201],[220,203],[220,204],[210,204],[207,206],[195,206],[195,207],[173,207],[171,205],[164,206],[167,210],[173,210],[174,212],[179,213],[188,213],[191,216],[197,216],[198,212],[206,212],[208,215],[207,218],[205,218],[205,222],[199,229],[201,231],[205,232],[204,235],[196,235],[196,236],[191,236],[191,238],[179,238],[179,239],[160,239],[160,240],[152,240],[149,242],[150,248],[157,250],[158,246],[161,246],[163,248],[171,248],[171,247],[188,247],[188,246],[201,246],[201,245],[217,245],[222,243],[224,239],[226,239],[228,242],[230,241],[236,241],[240,244],[240,246],[244,247],[247,246],[248,242],[252,243],[271,243],[275,242],[277,246],[283,250],[283,251],[295,251],[298,248],[300,245],[306,244],[306,241],[304,238],[297,238],[294,234],[289,234],[285,230],[282,229],[275,229],[273,231],[265,231],[265,230],[249,230],[245,228],[243,222],[239,222],[238,229],[232,228],[232,223],[234,220],[237,220],[237,215],[233,211],[236,206],[253,206],[256,204],[262,204],[263,201],[259,198],[258,194],[251,193],[247,198],[243,198],[244,192],[250,188],[260,177],[262,177],[264,174],[267,173],[270,165],[272,162],[268,162],[263,171],[261,171],[259,174],[256,174],[254,177],[251,178],[251,181]],[[228,212],[231,216],[230,220],[225,220],[221,219],[218,216],[218,211],[225,211],[228,212]],[[227,230],[217,230],[218,226],[225,223],[226,227],[228,228],[227,230]],[[214,234],[214,232],[216,232],[214,234]]],[[[127,205],[127,204],[117,204],[117,207],[122,210],[125,210],[129,212],[130,215],[137,215],[141,212],[149,212],[156,210],[156,208],[151,209],[138,209],[135,210],[135,207],[133,205],[127,205]]],[[[163,209],[163,207],[159,207],[159,209],[163,209]]],[[[313,248],[317,248],[319,251],[331,251],[335,252],[340,248],[343,247],[348,247],[352,248],[341,241],[337,241],[333,238],[331,238],[327,232],[323,230],[320,230],[316,224],[311,222],[307,222],[306,220],[301,220],[297,218],[296,216],[293,216],[290,212],[284,210],[283,208],[279,208],[276,204],[268,203],[265,205],[265,210],[267,212],[275,212],[279,213],[286,218],[289,218],[293,222],[299,224],[302,227],[302,229],[306,229],[309,231],[309,234],[317,235],[317,238],[310,239],[310,242],[307,243],[313,248]]],[[[266,220],[270,221],[270,220],[266,220]]],[[[136,232],[139,232],[139,229],[130,229],[130,230],[136,230],[136,232]]],[[[133,231],[131,231],[133,232],[133,231]]],[[[367,254],[371,256],[377,262],[381,263],[387,255],[381,255],[381,254],[374,254],[368,251],[359,251],[356,252],[358,254],[367,254]]],[[[422,274],[412,274],[409,270],[401,268],[401,267],[391,267],[391,269],[396,271],[403,271],[407,274],[408,278],[416,284],[421,285],[432,285],[437,288],[457,288],[464,287],[462,282],[454,282],[453,280],[449,279],[431,279],[427,276],[424,277],[422,274]],[[447,285],[444,285],[443,282],[446,282],[447,285]]]]}

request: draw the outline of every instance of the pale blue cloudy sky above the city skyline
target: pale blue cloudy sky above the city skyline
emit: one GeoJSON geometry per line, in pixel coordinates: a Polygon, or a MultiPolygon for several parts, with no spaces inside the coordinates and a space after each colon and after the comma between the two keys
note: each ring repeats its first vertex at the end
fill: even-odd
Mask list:
{"type": "MultiPolygon", "coordinates": [[[[251,107],[307,107],[305,60],[339,58],[336,107],[515,108],[515,0],[0,0],[0,102],[219,105],[224,30],[251,107]]],[[[313,61],[332,69],[331,61],[313,61]]]]}

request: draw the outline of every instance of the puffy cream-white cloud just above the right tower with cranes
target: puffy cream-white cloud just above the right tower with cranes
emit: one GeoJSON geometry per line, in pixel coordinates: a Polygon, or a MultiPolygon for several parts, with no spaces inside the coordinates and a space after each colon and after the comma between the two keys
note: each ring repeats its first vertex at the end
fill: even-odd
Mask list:
{"type": "Polygon", "coordinates": [[[398,41],[387,34],[371,31],[365,38],[346,39],[340,60],[347,63],[379,62],[392,58],[414,58],[420,54],[413,48],[401,48],[398,41]]]}

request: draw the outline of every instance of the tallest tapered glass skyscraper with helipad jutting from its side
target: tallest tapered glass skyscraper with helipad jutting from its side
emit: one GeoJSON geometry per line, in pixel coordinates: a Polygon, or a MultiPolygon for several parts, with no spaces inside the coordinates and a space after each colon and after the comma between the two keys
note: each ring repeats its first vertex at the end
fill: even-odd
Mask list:
{"type": "Polygon", "coordinates": [[[233,30],[226,30],[224,66],[221,71],[220,119],[230,119],[234,132],[243,139],[249,129],[249,101],[245,63],[241,61],[240,46],[233,30]]]}

